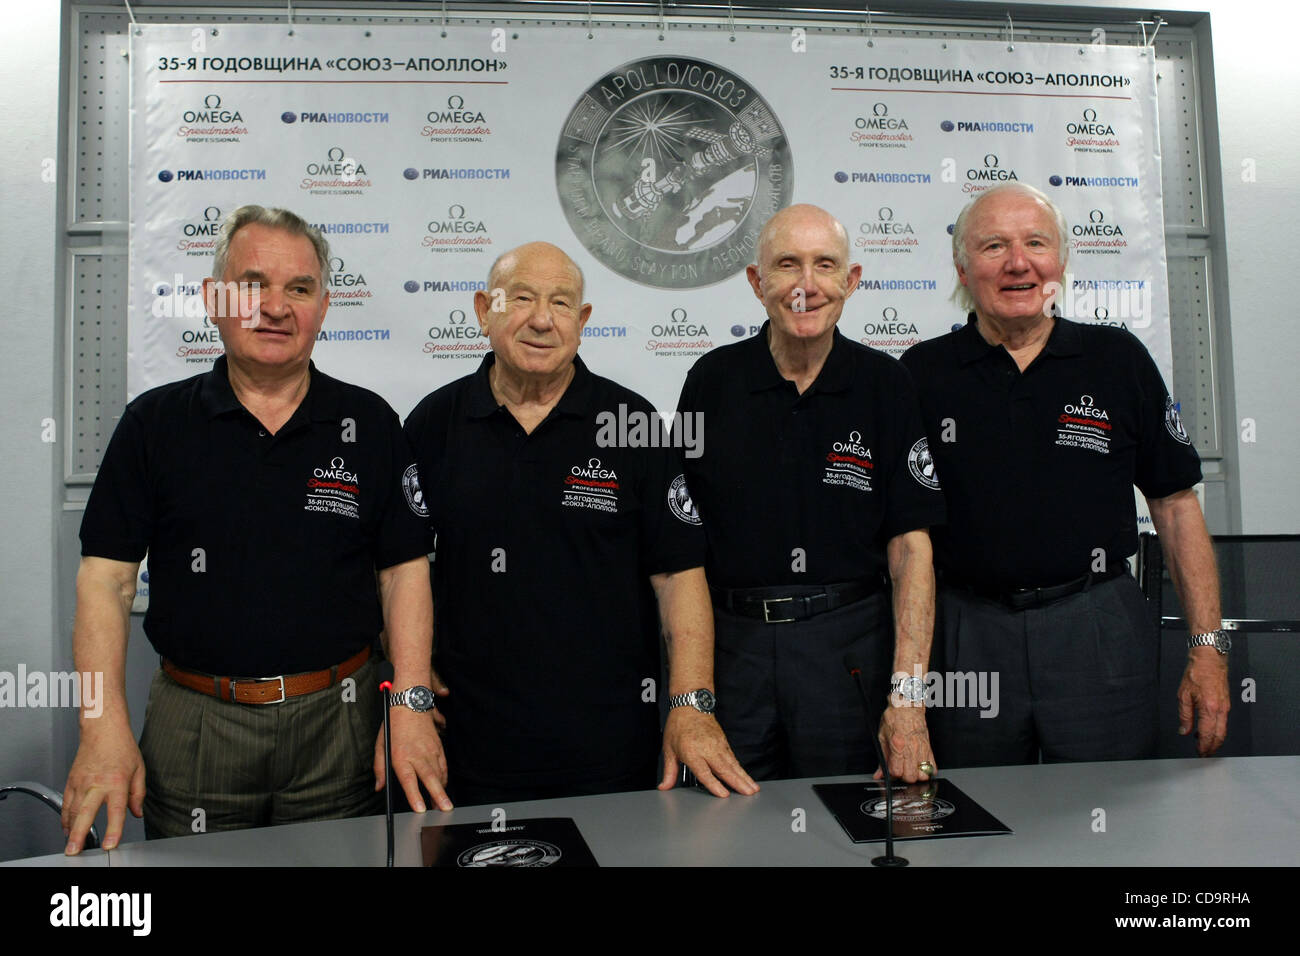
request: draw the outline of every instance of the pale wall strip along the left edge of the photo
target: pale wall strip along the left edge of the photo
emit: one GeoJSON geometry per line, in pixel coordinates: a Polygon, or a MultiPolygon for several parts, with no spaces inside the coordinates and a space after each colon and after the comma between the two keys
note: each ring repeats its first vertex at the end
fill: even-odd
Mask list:
{"type": "MultiPolygon", "coordinates": [[[[48,672],[62,659],[55,632],[55,518],[61,442],[42,442],[58,419],[55,256],[57,190],[42,178],[58,142],[60,4],[10,4],[0,39],[0,670],[48,672]]],[[[64,637],[66,640],[66,637],[64,637]]],[[[0,782],[53,783],[51,710],[0,710],[0,782]]],[[[58,773],[62,773],[60,769],[58,773]]],[[[60,779],[58,787],[62,787],[60,779]]],[[[22,799],[0,804],[0,857],[27,845],[53,814],[22,799]]],[[[31,844],[35,845],[35,844],[31,844]]],[[[44,845],[44,844],[40,844],[44,845]]],[[[46,851],[48,852],[48,849],[46,851]]]]}

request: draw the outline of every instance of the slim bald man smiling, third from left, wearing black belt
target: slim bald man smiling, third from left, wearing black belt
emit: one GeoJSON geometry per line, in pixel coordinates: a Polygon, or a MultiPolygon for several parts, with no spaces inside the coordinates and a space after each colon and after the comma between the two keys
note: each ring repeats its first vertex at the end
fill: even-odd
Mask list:
{"type": "Polygon", "coordinates": [[[836,330],[862,267],[835,217],[783,209],[757,252],[746,276],[767,323],[699,359],[679,403],[703,416],[686,481],[708,540],[718,717],[755,779],[870,773],[852,657],[872,706],[888,695],[890,773],[926,780],[927,529],[944,505],[916,392],[836,330]]]}

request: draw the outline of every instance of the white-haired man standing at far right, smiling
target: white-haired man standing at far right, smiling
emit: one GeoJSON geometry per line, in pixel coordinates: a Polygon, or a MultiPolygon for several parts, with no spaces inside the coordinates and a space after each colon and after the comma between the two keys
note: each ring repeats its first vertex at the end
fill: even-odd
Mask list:
{"type": "Polygon", "coordinates": [[[1138,548],[1135,484],[1195,632],[1180,732],[1200,711],[1197,749],[1209,754],[1227,730],[1227,639],[1192,492],[1200,459],[1127,329],[1054,315],[1066,255],[1065,219],[1041,191],[980,194],[953,229],[970,317],[904,355],[948,497],[935,533],[936,661],[1000,679],[996,713],[931,713],[948,766],[1154,750],[1160,639],[1126,561],[1138,548]]]}

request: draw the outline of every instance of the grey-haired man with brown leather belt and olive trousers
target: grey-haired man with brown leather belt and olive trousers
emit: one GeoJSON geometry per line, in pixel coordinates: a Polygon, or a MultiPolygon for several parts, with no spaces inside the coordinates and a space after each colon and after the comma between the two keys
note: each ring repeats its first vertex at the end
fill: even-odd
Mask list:
{"type": "MultiPolygon", "coordinates": [[[[393,410],[311,362],[328,282],[316,229],[237,209],[204,280],[225,355],[142,394],[113,433],[81,531],[77,669],[104,674],[105,700],[68,774],[69,853],[105,803],[105,849],[127,806],[150,836],[376,812],[381,628],[395,689],[433,700],[428,511],[393,410]],[[146,551],[162,667],[136,747],[125,666],[146,551]]],[[[450,809],[433,717],[407,697],[395,774],[416,809],[420,782],[450,809]]]]}

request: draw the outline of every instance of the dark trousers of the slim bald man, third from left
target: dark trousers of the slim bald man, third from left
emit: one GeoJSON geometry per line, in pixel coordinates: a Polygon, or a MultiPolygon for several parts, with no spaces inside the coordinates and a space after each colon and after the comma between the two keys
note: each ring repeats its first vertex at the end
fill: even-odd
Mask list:
{"type": "Polygon", "coordinates": [[[893,657],[892,618],[888,593],[781,624],[714,606],[718,721],[750,777],[876,769],[867,715],[844,658],[852,652],[859,661],[879,719],[893,657]]]}

